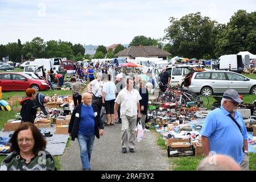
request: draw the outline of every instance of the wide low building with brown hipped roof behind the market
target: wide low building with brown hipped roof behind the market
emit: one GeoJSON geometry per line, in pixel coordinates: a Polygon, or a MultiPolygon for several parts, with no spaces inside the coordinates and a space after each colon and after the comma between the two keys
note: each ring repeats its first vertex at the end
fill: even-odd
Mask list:
{"type": "Polygon", "coordinates": [[[169,52],[163,51],[156,46],[130,46],[121,52],[118,52],[115,56],[135,59],[135,57],[150,57],[150,58],[163,58],[167,60],[167,57],[171,54],[169,52]]]}

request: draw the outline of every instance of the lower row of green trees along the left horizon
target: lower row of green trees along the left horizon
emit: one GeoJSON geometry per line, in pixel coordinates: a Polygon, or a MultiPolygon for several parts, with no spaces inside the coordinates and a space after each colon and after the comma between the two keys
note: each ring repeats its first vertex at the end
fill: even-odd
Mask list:
{"type": "MultiPolygon", "coordinates": [[[[44,42],[42,38],[36,37],[31,42],[21,44],[8,43],[0,45],[0,58],[9,56],[12,61],[21,61],[42,57],[67,57],[68,60],[79,61],[84,59],[85,48],[81,44],[72,44],[61,40],[49,40],[44,42]]],[[[88,55],[86,55],[88,57],[88,55]]]]}

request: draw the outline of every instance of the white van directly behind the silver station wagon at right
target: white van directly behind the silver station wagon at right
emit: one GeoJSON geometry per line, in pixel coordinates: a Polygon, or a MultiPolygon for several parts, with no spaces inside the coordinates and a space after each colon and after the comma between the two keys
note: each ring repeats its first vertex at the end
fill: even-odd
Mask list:
{"type": "Polygon", "coordinates": [[[219,70],[230,70],[233,72],[242,73],[243,61],[241,55],[223,55],[218,59],[219,70]]]}

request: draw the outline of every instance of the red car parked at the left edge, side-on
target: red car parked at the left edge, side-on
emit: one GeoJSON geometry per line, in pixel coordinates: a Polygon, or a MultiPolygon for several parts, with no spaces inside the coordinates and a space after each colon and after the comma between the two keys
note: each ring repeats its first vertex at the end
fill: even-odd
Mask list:
{"type": "Polygon", "coordinates": [[[36,91],[48,90],[49,84],[45,80],[36,80],[25,73],[0,73],[0,86],[3,91],[26,90],[34,88],[36,91]]]}

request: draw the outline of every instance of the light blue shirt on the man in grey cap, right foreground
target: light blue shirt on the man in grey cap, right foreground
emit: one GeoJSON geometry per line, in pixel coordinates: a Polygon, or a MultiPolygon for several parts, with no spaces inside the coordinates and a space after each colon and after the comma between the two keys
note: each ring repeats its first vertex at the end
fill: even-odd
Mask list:
{"type": "Polygon", "coordinates": [[[220,107],[211,111],[205,118],[204,126],[200,132],[209,138],[210,151],[217,154],[231,156],[241,164],[243,156],[243,140],[246,140],[247,130],[242,115],[235,111],[234,119],[240,125],[242,133],[236,123],[228,116],[229,112],[220,107]]]}

